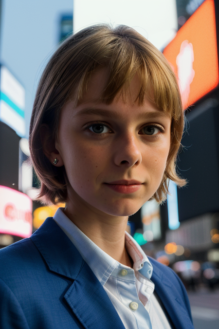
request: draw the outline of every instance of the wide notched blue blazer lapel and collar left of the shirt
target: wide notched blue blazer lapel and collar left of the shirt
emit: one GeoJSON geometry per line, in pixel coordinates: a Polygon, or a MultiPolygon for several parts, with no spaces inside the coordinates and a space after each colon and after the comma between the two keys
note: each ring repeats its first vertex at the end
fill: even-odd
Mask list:
{"type": "Polygon", "coordinates": [[[73,280],[64,298],[86,329],[125,329],[91,268],[52,218],[46,219],[31,240],[50,271],[73,280]]]}

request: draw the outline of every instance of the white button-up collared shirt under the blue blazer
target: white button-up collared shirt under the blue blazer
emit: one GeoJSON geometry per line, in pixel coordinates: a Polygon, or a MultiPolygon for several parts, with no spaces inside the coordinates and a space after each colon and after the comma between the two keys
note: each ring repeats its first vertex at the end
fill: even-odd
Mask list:
{"type": "Polygon", "coordinates": [[[171,329],[150,280],[152,265],[126,232],[126,249],[133,269],[110,257],[91,241],[59,208],[54,220],[66,233],[106,290],[126,329],[171,329]]]}

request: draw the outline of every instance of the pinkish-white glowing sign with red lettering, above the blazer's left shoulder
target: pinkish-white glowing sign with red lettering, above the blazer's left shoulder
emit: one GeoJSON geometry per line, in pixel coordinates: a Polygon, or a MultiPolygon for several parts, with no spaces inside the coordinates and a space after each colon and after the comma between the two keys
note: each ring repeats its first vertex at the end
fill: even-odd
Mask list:
{"type": "Polygon", "coordinates": [[[0,233],[32,234],[32,200],[26,194],[0,186],[0,233]]]}

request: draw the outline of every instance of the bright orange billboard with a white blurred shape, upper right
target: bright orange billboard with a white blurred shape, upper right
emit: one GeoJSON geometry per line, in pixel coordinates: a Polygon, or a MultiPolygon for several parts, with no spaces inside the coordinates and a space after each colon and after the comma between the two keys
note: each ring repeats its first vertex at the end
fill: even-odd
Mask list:
{"type": "Polygon", "coordinates": [[[219,83],[214,0],[205,0],[164,49],[181,89],[183,108],[219,83]]]}

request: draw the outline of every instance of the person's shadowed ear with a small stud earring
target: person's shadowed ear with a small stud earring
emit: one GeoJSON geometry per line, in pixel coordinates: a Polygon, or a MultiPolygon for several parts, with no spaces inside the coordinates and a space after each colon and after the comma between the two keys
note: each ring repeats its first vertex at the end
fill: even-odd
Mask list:
{"type": "Polygon", "coordinates": [[[64,165],[62,157],[58,150],[55,148],[55,140],[51,130],[47,124],[42,124],[40,127],[40,138],[43,147],[43,153],[50,160],[55,167],[62,167],[64,165]],[[55,161],[55,159],[57,159],[55,161]],[[56,162],[56,164],[54,163],[56,162]]]}

